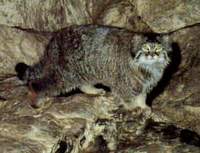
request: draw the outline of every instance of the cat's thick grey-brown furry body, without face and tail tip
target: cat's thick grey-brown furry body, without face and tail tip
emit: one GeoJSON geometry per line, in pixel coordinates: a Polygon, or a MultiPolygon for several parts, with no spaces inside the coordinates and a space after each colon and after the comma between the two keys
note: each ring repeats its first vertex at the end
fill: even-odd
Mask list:
{"type": "MultiPolygon", "coordinates": [[[[168,52],[168,39],[161,38],[168,52]],[[164,42],[163,42],[164,41],[164,42]]],[[[135,57],[147,38],[114,27],[72,26],[57,32],[40,62],[25,73],[25,80],[41,84],[42,95],[81,88],[84,84],[102,83],[124,99],[147,94],[163,75],[164,63],[145,65],[135,57]]],[[[36,89],[37,91],[37,89],[36,89]]]]}

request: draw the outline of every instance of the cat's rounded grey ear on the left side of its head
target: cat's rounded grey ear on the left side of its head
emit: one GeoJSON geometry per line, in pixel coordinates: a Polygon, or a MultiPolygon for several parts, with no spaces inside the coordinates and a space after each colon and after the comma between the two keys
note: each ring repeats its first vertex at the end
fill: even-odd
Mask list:
{"type": "Polygon", "coordinates": [[[140,50],[142,44],[144,44],[146,41],[147,38],[143,34],[135,34],[131,41],[131,54],[134,56],[140,50]]]}

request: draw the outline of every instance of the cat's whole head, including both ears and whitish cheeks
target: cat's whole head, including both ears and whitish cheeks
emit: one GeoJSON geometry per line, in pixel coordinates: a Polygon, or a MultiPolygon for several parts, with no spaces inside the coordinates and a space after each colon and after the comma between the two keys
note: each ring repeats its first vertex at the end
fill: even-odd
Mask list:
{"type": "Polygon", "coordinates": [[[168,54],[171,52],[171,42],[168,36],[159,36],[154,41],[145,36],[137,36],[134,44],[134,62],[143,67],[152,66],[165,68],[169,62],[168,54]]]}

